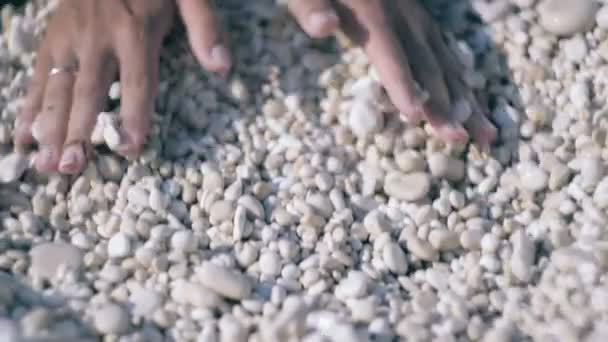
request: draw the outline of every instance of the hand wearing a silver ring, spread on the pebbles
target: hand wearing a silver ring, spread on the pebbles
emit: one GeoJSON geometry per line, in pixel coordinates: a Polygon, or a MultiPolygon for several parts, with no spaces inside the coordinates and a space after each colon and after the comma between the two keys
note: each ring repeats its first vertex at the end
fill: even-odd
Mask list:
{"type": "Polygon", "coordinates": [[[76,174],[108,89],[121,81],[119,153],[137,155],[146,140],[158,84],[160,49],[176,7],[199,62],[225,73],[231,60],[218,22],[204,0],[64,0],[38,50],[15,145],[38,143],[41,172],[76,174]],[[176,6],[177,3],[177,6],[176,6]],[[35,138],[35,139],[34,139],[35,138]]]}

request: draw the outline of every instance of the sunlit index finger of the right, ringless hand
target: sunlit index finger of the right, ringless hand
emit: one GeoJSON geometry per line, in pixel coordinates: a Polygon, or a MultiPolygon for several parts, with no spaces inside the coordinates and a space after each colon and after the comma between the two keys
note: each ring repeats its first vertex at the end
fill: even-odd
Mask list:
{"type": "Polygon", "coordinates": [[[418,120],[422,94],[416,87],[408,57],[390,28],[391,20],[378,3],[357,2],[356,8],[338,4],[336,8],[344,32],[365,49],[393,104],[401,113],[418,120]]]}

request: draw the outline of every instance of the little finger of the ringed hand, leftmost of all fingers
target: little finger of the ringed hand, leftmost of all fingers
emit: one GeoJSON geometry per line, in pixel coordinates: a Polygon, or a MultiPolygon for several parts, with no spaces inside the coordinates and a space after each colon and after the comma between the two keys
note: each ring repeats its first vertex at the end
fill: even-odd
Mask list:
{"type": "Polygon", "coordinates": [[[26,146],[34,142],[32,123],[42,108],[44,89],[50,69],[51,55],[48,50],[48,43],[45,41],[38,50],[34,74],[28,87],[24,106],[15,121],[15,148],[18,151],[24,151],[26,146]]]}

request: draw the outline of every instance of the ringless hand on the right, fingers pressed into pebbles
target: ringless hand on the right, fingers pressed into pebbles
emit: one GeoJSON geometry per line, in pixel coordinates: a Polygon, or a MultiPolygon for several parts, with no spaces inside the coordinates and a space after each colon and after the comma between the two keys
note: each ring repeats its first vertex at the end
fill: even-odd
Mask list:
{"type": "Polygon", "coordinates": [[[487,148],[496,128],[463,81],[463,67],[418,0],[291,0],[302,29],[324,38],[341,29],[361,45],[393,104],[413,121],[427,120],[445,142],[472,138],[487,148]],[[430,94],[424,101],[416,87],[430,94]],[[468,118],[459,117],[463,104],[468,118]],[[460,108],[458,108],[460,107],[460,108]]]}

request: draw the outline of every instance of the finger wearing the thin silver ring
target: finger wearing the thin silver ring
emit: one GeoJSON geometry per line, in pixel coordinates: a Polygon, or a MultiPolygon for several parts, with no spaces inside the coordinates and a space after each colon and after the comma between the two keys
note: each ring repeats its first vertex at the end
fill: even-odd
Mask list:
{"type": "MultiPolygon", "coordinates": [[[[68,66],[73,63],[56,65],[68,66]]],[[[47,80],[42,111],[32,124],[32,134],[39,145],[35,166],[40,172],[57,171],[72,103],[74,75],[71,71],[61,71],[47,80]]]]}

